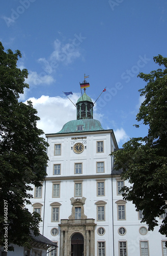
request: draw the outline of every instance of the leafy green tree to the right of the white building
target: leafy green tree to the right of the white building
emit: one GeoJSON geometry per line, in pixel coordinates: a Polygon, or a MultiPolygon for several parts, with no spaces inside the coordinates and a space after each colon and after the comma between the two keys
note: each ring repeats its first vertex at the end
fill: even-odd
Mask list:
{"type": "MultiPolygon", "coordinates": [[[[115,152],[116,169],[122,169],[122,178],[128,180],[123,197],[132,201],[136,210],[143,210],[143,222],[153,230],[158,225],[156,217],[167,209],[167,58],[158,55],[154,62],[163,69],[138,77],[147,82],[140,90],[145,96],[136,120],[148,126],[148,135],[132,138],[115,152]]],[[[139,127],[139,125],[135,125],[139,127]]],[[[159,232],[167,235],[167,217],[159,232]]]]}

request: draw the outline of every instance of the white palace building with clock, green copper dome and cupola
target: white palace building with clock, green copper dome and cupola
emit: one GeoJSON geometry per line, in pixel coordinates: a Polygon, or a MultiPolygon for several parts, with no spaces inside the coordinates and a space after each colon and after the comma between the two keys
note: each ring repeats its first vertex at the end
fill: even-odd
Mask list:
{"type": "Polygon", "coordinates": [[[128,183],[109,155],[118,150],[117,141],[112,129],[93,119],[93,105],[85,92],[76,103],[76,120],[46,134],[47,177],[34,187],[27,208],[40,213],[40,233],[58,246],[47,255],[165,256],[159,226],[148,231],[142,212],[123,200],[120,189],[128,183]]]}

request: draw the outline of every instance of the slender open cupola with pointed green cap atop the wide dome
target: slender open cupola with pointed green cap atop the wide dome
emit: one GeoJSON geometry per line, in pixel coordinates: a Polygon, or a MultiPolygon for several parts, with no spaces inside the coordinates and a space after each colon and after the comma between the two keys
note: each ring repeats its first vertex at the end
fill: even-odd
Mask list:
{"type": "Polygon", "coordinates": [[[84,92],[76,103],[76,119],[93,119],[93,105],[92,99],[84,92]]]}

